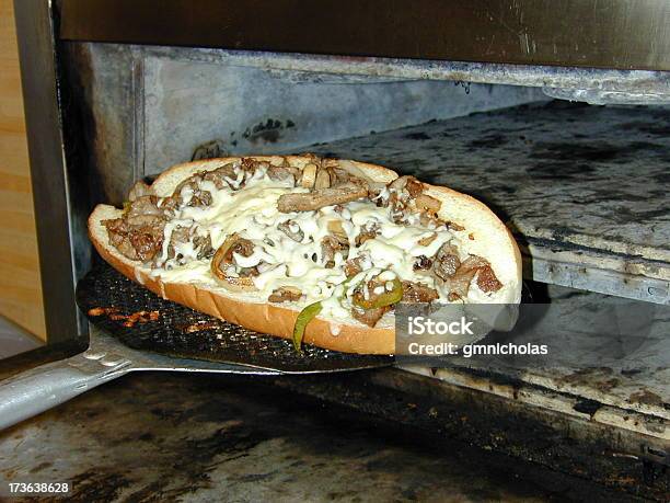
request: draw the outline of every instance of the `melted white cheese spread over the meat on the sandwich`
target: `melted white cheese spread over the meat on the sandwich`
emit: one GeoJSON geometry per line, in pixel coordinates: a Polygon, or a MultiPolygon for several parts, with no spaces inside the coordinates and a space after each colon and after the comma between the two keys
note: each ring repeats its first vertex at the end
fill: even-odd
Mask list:
{"type": "MultiPolygon", "coordinates": [[[[233,186],[240,186],[244,173],[236,170],[235,180],[229,181],[233,186]]],[[[209,181],[200,182],[203,191],[210,192],[211,204],[205,207],[190,207],[186,204],[193,197],[193,190],[185,186],[181,191],[183,205],[174,218],[165,226],[165,240],[159,260],[159,268],[151,272],[164,281],[189,282],[207,285],[218,289],[216,278],[210,271],[208,260],[198,260],[197,250],[192,241],[174,244],[175,259],[168,260],[169,243],[172,233],[178,227],[189,228],[193,237],[209,237],[213,249],[218,249],[226,238],[236,232],[241,238],[249,239],[254,244],[253,253],[243,256],[233,253],[233,263],[239,267],[257,266],[258,275],[252,281],[258,291],[242,294],[262,302],[277,288],[293,286],[305,296],[300,305],[323,301],[323,315],[332,318],[349,318],[350,298],[360,282],[381,274],[385,282],[373,290],[392,289],[392,281],[400,277],[403,281],[419,282],[429,287],[436,287],[431,275],[416,272],[413,265],[419,255],[432,256],[447,242],[459,244],[459,240],[446,227],[435,225],[421,226],[419,217],[408,214],[409,225],[396,224],[391,209],[378,207],[368,199],[361,199],[344,205],[340,212],[328,206],[316,212],[297,212],[282,214],[277,209],[279,197],[288,193],[308,192],[307,188],[294,187],[292,180],[270,180],[264,170],[256,170],[247,180],[246,185],[238,191],[229,187],[217,190],[209,181]],[[335,253],[335,266],[325,267],[322,240],[331,236],[328,226],[339,222],[349,242],[348,259],[357,259],[363,271],[343,285],[347,279],[344,273],[345,258],[335,253]],[[302,232],[302,240],[294,241],[278,226],[288,224],[293,233],[302,232]],[[379,236],[356,247],[356,237],[361,229],[378,228],[379,236]],[[435,235],[427,245],[419,244],[421,239],[435,235]]],[[[385,188],[382,197],[388,197],[385,188]],[[385,194],[385,195],[384,195],[385,194]]],[[[369,298],[367,286],[363,295],[369,298]]],[[[446,298],[440,291],[442,298],[446,298]]]]}

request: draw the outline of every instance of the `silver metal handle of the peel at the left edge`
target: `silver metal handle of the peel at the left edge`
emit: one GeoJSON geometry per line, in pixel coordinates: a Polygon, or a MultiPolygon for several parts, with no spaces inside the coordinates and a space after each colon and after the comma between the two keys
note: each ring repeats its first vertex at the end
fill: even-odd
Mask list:
{"type": "Polygon", "coordinates": [[[0,430],[66,402],[130,371],[130,362],[79,354],[0,381],[0,430]]]}

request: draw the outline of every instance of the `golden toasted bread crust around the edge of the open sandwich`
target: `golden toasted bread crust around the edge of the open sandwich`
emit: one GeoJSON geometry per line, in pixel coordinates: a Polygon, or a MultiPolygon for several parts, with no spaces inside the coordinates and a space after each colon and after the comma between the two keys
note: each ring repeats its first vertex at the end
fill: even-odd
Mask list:
{"type": "MultiPolygon", "coordinates": [[[[267,156],[249,157],[267,161],[270,161],[270,159],[279,159],[277,157],[267,156]]],[[[197,171],[216,169],[222,163],[232,162],[240,158],[213,159],[177,164],[159,175],[152,187],[157,188],[157,194],[166,195],[170,185],[176,185],[174,182],[181,181],[197,171]]],[[[286,159],[293,165],[304,165],[304,163],[310,161],[309,157],[290,156],[286,159]]],[[[363,171],[366,175],[379,182],[388,183],[397,176],[395,172],[379,165],[356,161],[340,162],[340,165],[344,167],[356,167],[356,169],[363,171]]],[[[457,221],[460,225],[466,226],[466,228],[476,228],[474,231],[475,236],[485,232],[489,237],[487,239],[486,236],[476,236],[473,243],[480,240],[480,242],[484,244],[483,249],[486,249],[484,241],[488,241],[501,248],[498,250],[495,260],[490,259],[490,254],[484,254],[477,251],[492,262],[496,273],[503,274],[500,279],[506,284],[506,293],[504,297],[496,299],[496,301],[510,304],[518,302],[521,285],[521,256],[513,238],[505,225],[498,220],[484,204],[470,196],[447,187],[428,184],[425,184],[425,186],[427,187],[428,194],[442,201],[442,206],[446,204],[451,206],[453,204],[464,208],[462,212],[463,217],[461,218],[461,215],[458,215],[459,219],[452,219],[448,210],[440,212],[440,214],[446,214],[444,216],[448,217],[447,219],[457,221]],[[476,215],[482,221],[477,225],[473,224],[470,226],[469,224],[472,222],[472,217],[466,218],[467,215],[476,215]],[[495,236],[495,239],[490,239],[492,236],[495,236]]],[[[89,236],[91,242],[101,256],[114,268],[165,299],[173,300],[216,318],[240,324],[256,332],[267,333],[284,339],[292,338],[293,324],[299,312],[296,309],[270,304],[264,299],[258,299],[257,302],[251,302],[246,299],[242,300],[236,298],[239,296],[235,296],[234,293],[212,291],[189,283],[165,283],[159,277],[151,276],[148,270],[141,267],[138,262],[123,256],[109,244],[106,229],[101,224],[102,220],[115,218],[119,216],[119,214],[120,210],[112,206],[99,205],[89,217],[89,236]]],[[[353,319],[343,320],[342,322],[332,322],[316,318],[309,323],[304,335],[304,342],[345,353],[393,354],[395,347],[395,329],[394,327],[369,328],[353,319]]]]}

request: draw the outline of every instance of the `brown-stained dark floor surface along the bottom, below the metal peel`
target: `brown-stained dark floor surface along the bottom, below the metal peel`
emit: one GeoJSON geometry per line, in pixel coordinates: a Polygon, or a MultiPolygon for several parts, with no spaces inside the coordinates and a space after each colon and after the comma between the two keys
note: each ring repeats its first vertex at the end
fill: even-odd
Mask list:
{"type": "Polygon", "coordinates": [[[634,500],[267,382],[126,376],[0,433],[1,477],[82,502],[634,500]]]}

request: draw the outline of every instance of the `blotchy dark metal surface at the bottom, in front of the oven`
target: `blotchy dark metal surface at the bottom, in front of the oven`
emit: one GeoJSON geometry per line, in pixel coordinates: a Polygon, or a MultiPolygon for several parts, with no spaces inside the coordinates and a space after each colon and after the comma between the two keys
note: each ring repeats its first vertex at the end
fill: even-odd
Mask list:
{"type": "Polygon", "coordinates": [[[639,459],[505,420],[485,397],[449,403],[358,376],[293,377],[284,390],[269,378],[126,376],[0,433],[0,479],[69,482],[69,501],[86,503],[612,502],[668,490],[639,459]]]}

